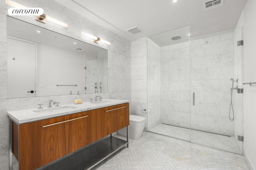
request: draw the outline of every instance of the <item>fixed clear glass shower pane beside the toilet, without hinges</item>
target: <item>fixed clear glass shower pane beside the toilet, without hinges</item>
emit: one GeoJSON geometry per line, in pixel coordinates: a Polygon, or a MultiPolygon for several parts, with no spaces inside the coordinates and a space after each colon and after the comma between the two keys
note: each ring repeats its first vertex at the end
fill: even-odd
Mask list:
{"type": "Polygon", "coordinates": [[[189,26],[181,27],[147,42],[148,131],[185,141],[190,141],[189,33],[189,26]]]}

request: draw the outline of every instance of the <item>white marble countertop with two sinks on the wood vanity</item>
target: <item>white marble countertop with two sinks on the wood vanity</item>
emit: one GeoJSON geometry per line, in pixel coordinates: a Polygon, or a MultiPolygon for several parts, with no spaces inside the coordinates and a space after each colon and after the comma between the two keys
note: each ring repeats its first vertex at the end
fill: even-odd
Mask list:
{"type": "Polygon", "coordinates": [[[28,123],[78,113],[81,111],[93,110],[102,107],[114,106],[117,104],[128,103],[129,100],[106,99],[98,102],[83,102],[82,104],[66,104],[59,107],[44,107],[43,109],[25,109],[17,111],[8,111],[7,115],[17,124],[28,123]]]}

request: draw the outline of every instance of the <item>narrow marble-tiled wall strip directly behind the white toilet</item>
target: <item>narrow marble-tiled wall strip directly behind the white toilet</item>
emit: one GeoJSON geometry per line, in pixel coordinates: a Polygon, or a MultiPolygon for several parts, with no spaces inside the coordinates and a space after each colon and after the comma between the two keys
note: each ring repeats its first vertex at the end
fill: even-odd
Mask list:
{"type": "Polygon", "coordinates": [[[142,109],[147,109],[147,37],[132,41],[131,62],[131,114],[146,117],[142,109]]]}

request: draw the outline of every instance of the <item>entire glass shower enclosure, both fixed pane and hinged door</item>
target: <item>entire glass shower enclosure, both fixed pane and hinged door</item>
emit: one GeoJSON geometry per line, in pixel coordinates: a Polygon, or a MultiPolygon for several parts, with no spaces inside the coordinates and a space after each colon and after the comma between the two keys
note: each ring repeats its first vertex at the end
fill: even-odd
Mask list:
{"type": "Polygon", "coordinates": [[[188,38],[147,40],[148,131],[242,154],[242,27],[190,38],[186,26],[171,35],[180,29],[188,38]]]}

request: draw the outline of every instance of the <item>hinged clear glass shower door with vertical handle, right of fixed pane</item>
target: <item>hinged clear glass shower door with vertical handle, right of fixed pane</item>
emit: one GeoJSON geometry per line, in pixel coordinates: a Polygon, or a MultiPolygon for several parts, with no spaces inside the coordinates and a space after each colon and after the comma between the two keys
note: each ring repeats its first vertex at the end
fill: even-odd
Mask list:
{"type": "Polygon", "coordinates": [[[242,27],[190,41],[190,141],[237,154],[242,154],[238,135],[243,136],[240,40],[242,27]]]}

